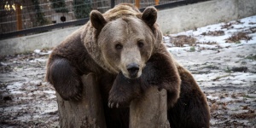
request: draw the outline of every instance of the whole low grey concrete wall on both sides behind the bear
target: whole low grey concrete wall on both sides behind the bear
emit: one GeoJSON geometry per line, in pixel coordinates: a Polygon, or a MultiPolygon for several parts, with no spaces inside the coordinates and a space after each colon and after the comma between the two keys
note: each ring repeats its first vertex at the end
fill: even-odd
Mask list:
{"type": "MultiPolygon", "coordinates": [[[[256,15],[256,0],[213,0],[160,10],[157,22],[163,33],[177,33],[251,15],[256,15]]],[[[0,40],[0,55],[55,47],[79,27],[0,40]]]]}

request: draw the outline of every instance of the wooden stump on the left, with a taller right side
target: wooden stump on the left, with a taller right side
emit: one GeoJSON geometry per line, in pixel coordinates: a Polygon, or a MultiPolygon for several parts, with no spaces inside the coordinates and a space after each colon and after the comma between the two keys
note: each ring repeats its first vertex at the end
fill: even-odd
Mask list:
{"type": "Polygon", "coordinates": [[[61,128],[106,128],[102,97],[93,73],[82,76],[84,90],[79,102],[64,101],[56,92],[61,128]]]}

